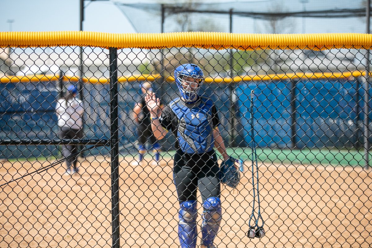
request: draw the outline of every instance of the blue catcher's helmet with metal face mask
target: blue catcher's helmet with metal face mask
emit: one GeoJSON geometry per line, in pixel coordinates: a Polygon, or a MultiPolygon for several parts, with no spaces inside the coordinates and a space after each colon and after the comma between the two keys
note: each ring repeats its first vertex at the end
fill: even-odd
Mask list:
{"type": "Polygon", "coordinates": [[[186,101],[193,101],[202,87],[204,73],[198,65],[183,64],[174,70],[174,79],[176,80],[181,97],[186,101]],[[188,77],[194,80],[186,80],[188,77]]]}

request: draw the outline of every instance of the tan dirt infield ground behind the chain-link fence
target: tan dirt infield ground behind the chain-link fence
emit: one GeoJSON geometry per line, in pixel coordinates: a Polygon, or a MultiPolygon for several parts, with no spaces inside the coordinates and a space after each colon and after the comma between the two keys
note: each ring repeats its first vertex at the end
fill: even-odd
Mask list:
{"type": "MultiPolygon", "coordinates": [[[[131,165],[131,160],[120,162],[121,247],[179,247],[173,161],[131,165]]],[[[0,184],[51,162],[3,162],[0,184]]],[[[245,235],[253,200],[252,174],[246,171],[235,192],[222,186],[219,248],[370,247],[371,172],[359,167],[259,167],[266,236],[250,240],[245,235]]],[[[88,157],[80,176],[64,172],[57,165],[1,187],[0,247],[111,246],[109,158],[88,157]]],[[[200,197],[198,208],[200,226],[200,197]]]]}

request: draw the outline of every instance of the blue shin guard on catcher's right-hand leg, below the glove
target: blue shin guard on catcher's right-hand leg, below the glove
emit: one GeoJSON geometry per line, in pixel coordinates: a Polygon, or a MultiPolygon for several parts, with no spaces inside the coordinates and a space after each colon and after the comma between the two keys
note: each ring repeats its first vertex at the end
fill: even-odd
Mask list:
{"type": "Polygon", "coordinates": [[[202,244],[213,245],[222,219],[221,200],[219,197],[209,197],[203,203],[202,244]]]}

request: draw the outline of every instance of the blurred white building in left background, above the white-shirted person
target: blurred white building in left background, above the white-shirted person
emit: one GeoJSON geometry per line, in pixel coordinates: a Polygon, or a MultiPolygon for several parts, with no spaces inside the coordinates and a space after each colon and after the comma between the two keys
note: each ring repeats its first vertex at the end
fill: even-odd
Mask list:
{"type": "MultiPolygon", "coordinates": [[[[16,75],[22,76],[31,74],[59,75],[61,70],[62,73],[66,75],[80,77],[79,52],[80,49],[78,47],[16,48],[12,55],[12,71],[16,75]]],[[[8,55],[6,55],[6,57],[7,56],[8,55]]],[[[151,53],[141,51],[141,49],[119,50],[118,76],[139,74],[140,72],[137,71],[138,65],[144,61],[150,61],[151,59],[153,59],[151,58],[151,53]]],[[[84,48],[83,74],[85,77],[109,77],[108,65],[109,58],[107,49],[84,48]]],[[[0,70],[1,74],[12,74],[9,73],[9,67],[1,67],[0,70]]]]}

